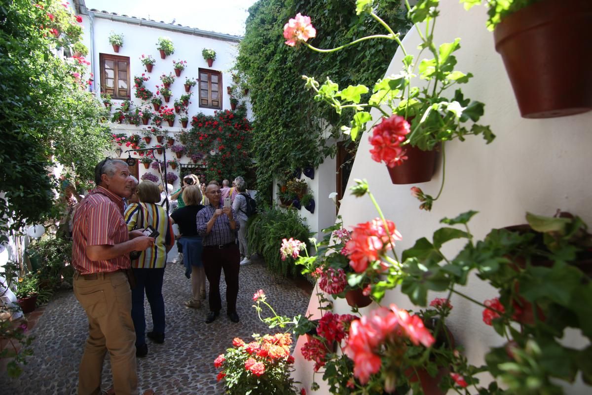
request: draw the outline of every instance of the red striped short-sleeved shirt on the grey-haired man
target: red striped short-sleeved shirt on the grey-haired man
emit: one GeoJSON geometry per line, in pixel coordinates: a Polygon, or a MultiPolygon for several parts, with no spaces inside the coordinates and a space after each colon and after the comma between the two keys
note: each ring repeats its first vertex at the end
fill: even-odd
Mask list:
{"type": "Polygon", "coordinates": [[[81,274],[114,272],[130,267],[127,254],[105,261],[91,261],[86,256],[88,246],[113,246],[129,240],[121,197],[96,187],[76,207],[72,223],[72,265],[81,274]]]}

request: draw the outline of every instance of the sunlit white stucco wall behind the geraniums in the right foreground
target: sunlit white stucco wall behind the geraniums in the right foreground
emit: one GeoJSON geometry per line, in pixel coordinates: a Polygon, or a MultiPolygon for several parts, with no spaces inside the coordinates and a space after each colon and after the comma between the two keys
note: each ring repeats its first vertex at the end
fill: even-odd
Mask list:
{"type": "MultiPolygon", "coordinates": [[[[419,210],[419,201],[410,194],[413,185],[391,184],[386,166],[374,162],[369,155],[367,133],[362,136],[348,187],[353,185],[353,179],[368,179],[385,216],[395,222],[403,235],[403,240],[397,243],[399,254],[420,237],[431,239],[443,217],[455,217],[468,210],[479,211],[469,224],[477,239],[482,239],[491,229],[524,223],[526,211],[550,216],[561,208],[592,224],[589,204],[592,186],[588,182],[592,172],[589,154],[592,113],[542,120],[521,118],[503,62],[494,50],[493,35],[485,29],[485,9],[476,7],[466,12],[457,3],[442,2],[435,42],[451,42],[461,37],[462,48],[456,53],[457,69],[475,75],[462,89],[465,97],[485,102],[485,116],[480,123],[490,124],[497,139],[489,145],[481,137],[446,143],[446,185],[431,212],[419,210]]],[[[419,52],[418,43],[416,31],[411,31],[404,40],[408,52],[415,54],[419,52]]],[[[387,75],[398,73],[402,57],[399,50],[387,75]]],[[[442,176],[440,165],[432,181],[418,186],[435,196],[442,176]]],[[[368,197],[351,195],[343,199],[340,214],[349,227],[377,217],[368,197]]],[[[462,245],[449,244],[445,253],[455,256],[462,245]]],[[[493,288],[477,278],[469,280],[464,292],[481,301],[497,296],[493,288]]],[[[440,295],[429,295],[430,298],[436,296],[440,295]]],[[[383,302],[413,307],[407,296],[398,290],[388,293],[383,302]]],[[[454,309],[447,323],[457,343],[465,347],[469,362],[481,364],[490,346],[504,340],[482,322],[481,307],[459,298],[453,298],[452,304],[454,309]]],[[[367,313],[375,307],[372,304],[361,311],[367,313]]],[[[338,301],[335,310],[346,313],[349,306],[345,301],[338,301]]],[[[575,336],[567,338],[575,345],[581,342],[575,336]]],[[[311,365],[302,360],[299,351],[295,352],[295,357],[295,377],[308,391],[311,365]]],[[[589,390],[577,384],[566,393],[585,394],[589,390]]],[[[328,392],[321,386],[317,393],[328,392]]]]}

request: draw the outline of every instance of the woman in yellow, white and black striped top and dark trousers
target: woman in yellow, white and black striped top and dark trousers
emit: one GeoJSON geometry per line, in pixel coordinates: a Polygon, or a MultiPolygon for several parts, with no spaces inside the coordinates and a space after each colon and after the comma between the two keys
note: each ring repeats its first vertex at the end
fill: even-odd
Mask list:
{"type": "Polygon", "coordinates": [[[166,210],[157,203],[160,201],[158,186],[152,181],[142,181],[138,185],[139,204],[130,204],[124,214],[127,229],[145,229],[152,226],[159,235],[154,245],[140,253],[131,262],[136,277],[136,287],[131,291],[131,318],[136,329],[136,355],[148,354],[146,345],[146,319],[144,317],[144,291],[150,303],[154,328],[147,335],[157,343],[165,341],[165,301],[162,297],[162,281],[165,276],[166,254],[175,243],[172,224],[166,210]]]}

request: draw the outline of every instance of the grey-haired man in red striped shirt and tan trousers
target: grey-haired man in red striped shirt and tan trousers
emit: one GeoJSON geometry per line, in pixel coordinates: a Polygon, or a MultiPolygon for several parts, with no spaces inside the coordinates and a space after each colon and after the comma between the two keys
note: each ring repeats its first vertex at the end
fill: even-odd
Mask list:
{"type": "Polygon", "coordinates": [[[141,230],[127,231],[123,198],[133,181],[126,163],[104,159],[95,167],[96,188],[79,203],[73,220],[74,294],[88,317],[89,336],[79,367],[78,393],[101,393],[101,371],[109,351],[117,395],[137,395],[136,333],[125,269],[131,251],[153,245],[141,230]]]}

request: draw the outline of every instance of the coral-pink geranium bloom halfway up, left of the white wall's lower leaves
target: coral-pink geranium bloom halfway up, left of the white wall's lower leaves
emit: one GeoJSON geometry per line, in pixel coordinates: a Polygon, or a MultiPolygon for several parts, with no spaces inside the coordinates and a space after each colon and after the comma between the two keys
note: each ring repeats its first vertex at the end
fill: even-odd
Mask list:
{"type": "Polygon", "coordinates": [[[345,248],[348,251],[349,265],[356,273],[362,273],[368,268],[368,264],[378,261],[381,255],[391,249],[391,243],[402,240],[394,222],[387,220],[387,230],[381,219],[358,224],[351,233],[350,240],[345,248]]]}

